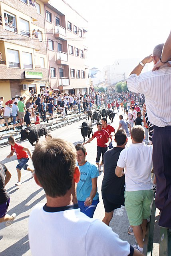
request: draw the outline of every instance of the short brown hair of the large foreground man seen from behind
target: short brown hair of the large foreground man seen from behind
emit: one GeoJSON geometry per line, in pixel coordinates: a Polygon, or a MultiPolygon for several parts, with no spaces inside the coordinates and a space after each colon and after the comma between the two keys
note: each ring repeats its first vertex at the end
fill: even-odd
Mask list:
{"type": "Polygon", "coordinates": [[[38,143],[32,161],[38,181],[46,195],[64,196],[72,187],[76,149],[71,142],[53,139],[38,143]]]}

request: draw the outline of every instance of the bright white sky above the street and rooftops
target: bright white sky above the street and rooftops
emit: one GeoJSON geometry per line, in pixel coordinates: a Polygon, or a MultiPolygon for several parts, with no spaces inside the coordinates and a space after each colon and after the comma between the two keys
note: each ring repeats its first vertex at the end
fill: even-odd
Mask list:
{"type": "Polygon", "coordinates": [[[171,0],[65,0],[87,21],[89,68],[139,58],[166,41],[171,0]]]}

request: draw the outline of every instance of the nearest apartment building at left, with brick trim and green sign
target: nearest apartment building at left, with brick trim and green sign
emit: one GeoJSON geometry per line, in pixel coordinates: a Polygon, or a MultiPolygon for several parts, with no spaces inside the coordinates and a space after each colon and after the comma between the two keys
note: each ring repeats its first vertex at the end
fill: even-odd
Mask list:
{"type": "Polygon", "coordinates": [[[0,96],[29,97],[49,85],[44,4],[37,0],[0,1],[0,96]],[[37,32],[37,34],[34,34],[37,32]],[[35,36],[36,35],[36,36],[35,36]]]}

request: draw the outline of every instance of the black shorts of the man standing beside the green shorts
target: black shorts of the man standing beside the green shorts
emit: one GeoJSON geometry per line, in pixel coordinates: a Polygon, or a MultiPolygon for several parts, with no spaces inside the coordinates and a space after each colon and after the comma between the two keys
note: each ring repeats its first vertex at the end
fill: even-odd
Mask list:
{"type": "MultiPolygon", "coordinates": [[[[125,190],[125,188],[124,188],[125,190]]],[[[121,205],[125,205],[124,191],[120,196],[105,194],[101,191],[105,212],[112,212],[117,208],[121,208],[121,205]]]]}

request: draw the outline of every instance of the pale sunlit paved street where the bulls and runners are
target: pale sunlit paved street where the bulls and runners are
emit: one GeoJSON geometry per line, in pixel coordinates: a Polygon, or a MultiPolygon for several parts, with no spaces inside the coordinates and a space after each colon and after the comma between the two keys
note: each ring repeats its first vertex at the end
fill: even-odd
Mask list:
{"type": "MultiPolygon", "coordinates": [[[[118,114],[123,114],[119,112],[118,114]]],[[[126,115],[124,116],[126,118],[126,115]]],[[[83,142],[83,138],[81,136],[81,131],[78,130],[80,128],[83,121],[75,122],[71,125],[64,126],[62,128],[58,128],[55,131],[52,131],[52,136],[54,138],[63,138],[68,140],[74,144],[78,142],[83,142]]],[[[119,126],[119,115],[115,115],[114,123],[112,124],[117,130],[119,126]]],[[[96,125],[93,124],[93,132],[96,131],[96,125]]],[[[44,140],[44,138],[40,138],[40,141],[44,140]]],[[[131,139],[128,139],[128,143],[131,142],[131,139]]],[[[28,141],[24,141],[21,143],[24,147],[29,147],[31,150],[34,150],[34,147],[28,141]]],[[[87,148],[87,160],[95,163],[96,158],[96,141],[93,140],[91,143],[86,144],[87,148]]],[[[3,223],[0,224],[0,255],[1,256],[30,256],[29,242],[28,242],[28,217],[32,210],[32,207],[39,202],[46,202],[44,190],[40,188],[34,182],[34,179],[31,178],[30,172],[22,170],[22,186],[20,188],[15,186],[17,182],[17,173],[16,173],[16,165],[17,159],[16,155],[12,156],[10,159],[7,159],[6,156],[10,153],[10,146],[4,146],[1,149],[0,161],[6,164],[10,172],[12,173],[12,178],[10,182],[7,184],[6,188],[10,193],[10,206],[8,208],[8,213],[12,214],[16,212],[17,218],[15,222],[6,227],[3,223]]],[[[32,168],[32,161],[29,160],[29,166],[32,168]]],[[[103,219],[104,216],[104,207],[101,199],[101,182],[103,180],[103,174],[98,178],[98,191],[100,203],[97,205],[97,209],[95,210],[94,217],[99,220],[103,219]]],[[[155,224],[155,233],[158,234],[157,229],[158,222],[158,213],[156,217],[155,224]]],[[[110,226],[119,237],[123,240],[127,240],[130,244],[135,243],[134,236],[129,236],[127,234],[129,222],[127,219],[127,214],[125,208],[120,208],[115,210],[113,214],[113,219],[111,220],[110,226]]],[[[42,234],[43,235],[43,234],[42,234]]],[[[158,243],[159,238],[155,235],[154,238],[155,246],[153,255],[158,255],[158,243]]],[[[97,242],[98,234],[97,234],[97,242]]]]}

